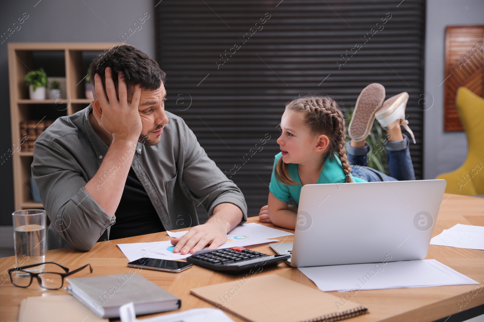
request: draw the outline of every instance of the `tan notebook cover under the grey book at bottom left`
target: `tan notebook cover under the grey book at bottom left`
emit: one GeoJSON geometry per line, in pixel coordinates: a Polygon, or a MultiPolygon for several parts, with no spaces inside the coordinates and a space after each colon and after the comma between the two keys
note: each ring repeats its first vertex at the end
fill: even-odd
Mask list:
{"type": "Polygon", "coordinates": [[[18,322],[66,321],[109,322],[68,294],[27,297],[18,312],[18,322]]]}

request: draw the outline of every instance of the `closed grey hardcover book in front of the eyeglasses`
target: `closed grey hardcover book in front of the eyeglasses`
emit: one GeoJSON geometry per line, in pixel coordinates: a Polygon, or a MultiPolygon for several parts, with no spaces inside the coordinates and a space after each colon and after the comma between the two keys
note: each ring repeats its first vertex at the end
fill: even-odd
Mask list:
{"type": "Polygon", "coordinates": [[[179,309],[180,298],[136,273],[67,279],[67,291],[102,318],[119,317],[133,302],[136,315],[179,309]]]}

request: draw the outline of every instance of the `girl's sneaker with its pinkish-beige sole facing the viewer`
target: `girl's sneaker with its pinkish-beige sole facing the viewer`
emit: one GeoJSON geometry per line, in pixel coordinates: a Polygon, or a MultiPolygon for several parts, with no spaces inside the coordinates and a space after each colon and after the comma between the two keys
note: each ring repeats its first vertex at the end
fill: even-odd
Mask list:
{"type": "Polygon", "coordinates": [[[356,100],[355,109],[348,126],[348,136],[351,140],[361,142],[366,139],[375,120],[375,112],[385,100],[385,87],[372,83],[363,88],[356,100]]]}

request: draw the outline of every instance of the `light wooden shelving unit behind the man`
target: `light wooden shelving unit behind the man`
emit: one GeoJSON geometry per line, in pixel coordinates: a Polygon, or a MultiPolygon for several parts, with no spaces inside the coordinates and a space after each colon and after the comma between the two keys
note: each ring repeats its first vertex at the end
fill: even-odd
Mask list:
{"type": "MultiPolygon", "coordinates": [[[[20,122],[36,119],[39,110],[49,111],[49,108],[65,104],[65,109],[52,110],[57,117],[71,115],[84,109],[91,103],[85,98],[83,78],[86,76],[89,62],[86,56],[95,56],[116,45],[108,42],[10,42],[8,43],[8,70],[10,82],[10,118],[12,127],[12,146],[18,145],[21,139],[20,122]],[[62,56],[66,79],[66,98],[63,99],[29,99],[28,87],[24,76],[36,67],[35,55],[41,52],[55,57],[62,56]],[[87,66],[86,66],[87,64],[87,66]]],[[[92,58],[91,58],[92,59],[92,58]]],[[[59,67],[59,66],[58,66],[59,67]]],[[[47,73],[47,76],[48,75],[47,73]]],[[[40,120],[42,117],[38,117],[40,120]]],[[[15,210],[43,208],[41,203],[34,202],[30,189],[30,165],[33,161],[32,152],[15,151],[12,148],[14,168],[15,210]]]]}

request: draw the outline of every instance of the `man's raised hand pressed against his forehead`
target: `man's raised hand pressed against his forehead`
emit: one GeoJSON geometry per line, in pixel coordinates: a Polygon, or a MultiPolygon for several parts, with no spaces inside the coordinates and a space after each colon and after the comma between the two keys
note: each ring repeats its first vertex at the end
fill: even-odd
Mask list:
{"type": "Polygon", "coordinates": [[[91,102],[92,112],[100,126],[111,134],[113,140],[137,141],[142,130],[138,104],[141,87],[136,84],[131,103],[122,72],[118,73],[118,95],[110,67],[106,67],[106,93],[99,74],[94,75],[97,100],[91,102]]]}

